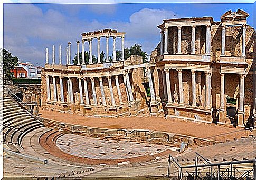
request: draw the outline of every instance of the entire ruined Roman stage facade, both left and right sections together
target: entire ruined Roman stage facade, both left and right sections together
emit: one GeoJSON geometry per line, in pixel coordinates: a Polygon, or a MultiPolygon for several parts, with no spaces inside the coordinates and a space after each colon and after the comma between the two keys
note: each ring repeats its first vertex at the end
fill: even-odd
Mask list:
{"type": "MultiPolygon", "coordinates": [[[[161,41],[150,62],[131,56],[125,60],[125,33],[105,29],[82,33],[82,63],[52,63],[42,73],[43,107],[100,117],[143,113],[176,119],[244,127],[256,116],[254,29],[248,13],[228,11],[220,22],[212,17],[166,19],[159,25],[161,41]],[[106,62],[100,61],[100,39],[106,37],[106,62]],[[109,37],[113,59],[109,59],[109,37]],[[98,39],[97,58],[92,39],[98,39]],[[121,58],[116,57],[121,38],[121,58]],[[89,42],[86,63],[84,43],[89,42]],[[254,69],[254,70],[253,70],[254,69]],[[147,98],[145,87],[150,88],[147,98]]],[[[79,41],[77,52],[79,54],[79,41]]]]}

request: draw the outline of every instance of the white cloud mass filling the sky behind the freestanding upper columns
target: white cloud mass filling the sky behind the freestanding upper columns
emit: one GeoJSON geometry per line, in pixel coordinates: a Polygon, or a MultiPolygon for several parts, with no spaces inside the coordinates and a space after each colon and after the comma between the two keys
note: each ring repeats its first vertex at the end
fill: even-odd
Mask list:
{"type": "MultiPolygon", "coordinates": [[[[73,5],[67,6],[72,8],[73,5]]],[[[81,39],[82,32],[113,28],[119,32],[126,32],[126,47],[135,43],[140,44],[144,51],[150,54],[159,42],[157,25],[161,24],[163,19],[178,17],[174,15],[174,12],[165,9],[144,8],[131,14],[129,22],[102,23],[95,19],[82,21],[76,16],[66,15],[57,9],[48,9],[43,12],[33,4],[5,4],[4,48],[9,49],[24,61],[40,62],[43,65],[45,47],[48,47],[51,52],[53,44],[58,47],[61,43],[63,59],[65,59],[65,46],[68,41],[72,42],[72,55],[74,55],[75,41],[81,39]]],[[[94,44],[93,53],[96,54],[97,48],[94,44]]],[[[109,46],[111,48],[111,44],[109,46]]],[[[101,49],[105,49],[105,43],[102,43],[101,49]]]]}

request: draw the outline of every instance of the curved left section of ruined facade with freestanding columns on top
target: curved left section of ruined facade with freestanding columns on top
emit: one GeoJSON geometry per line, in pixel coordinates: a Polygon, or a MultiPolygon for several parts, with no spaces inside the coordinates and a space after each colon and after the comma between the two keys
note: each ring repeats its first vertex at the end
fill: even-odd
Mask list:
{"type": "MultiPolygon", "coordinates": [[[[148,111],[144,76],[154,64],[143,64],[139,56],[124,59],[124,36],[116,30],[82,33],[82,64],[71,64],[70,46],[67,47],[67,65],[55,64],[53,46],[52,63],[46,64],[42,73],[43,106],[60,112],[81,113],[87,116],[122,117],[148,111]],[[100,62],[100,39],[106,37],[106,61],[100,62]],[[109,59],[109,37],[113,38],[113,59],[109,59]],[[121,59],[116,58],[116,38],[121,38],[121,59]],[[97,62],[92,58],[92,39],[98,39],[97,62]],[[89,63],[84,56],[84,42],[89,42],[89,63]]],[[[77,52],[79,54],[79,41],[77,52]]],[[[61,46],[59,48],[61,52],[61,46]]],[[[149,72],[150,74],[150,72],[149,72]]],[[[150,75],[151,76],[151,75],[150,75]]],[[[151,81],[151,89],[153,82],[151,81]]]]}

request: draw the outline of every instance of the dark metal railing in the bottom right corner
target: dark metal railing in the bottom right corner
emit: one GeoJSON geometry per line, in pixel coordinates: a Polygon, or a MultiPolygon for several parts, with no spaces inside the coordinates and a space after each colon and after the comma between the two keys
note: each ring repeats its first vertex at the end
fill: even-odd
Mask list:
{"type": "Polygon", "coordinates": [[[178,179],[184,177],[192,179],[199,177],[207,177],[208,179],[229,179],[232,177],[244,179],[253,177],[256,179],[256,159],[211,163],[200,154],[195,153],[195,165],[182,166],[171,155],[169,155],[168,164],[167,177],[176,177],[178,179]]]}

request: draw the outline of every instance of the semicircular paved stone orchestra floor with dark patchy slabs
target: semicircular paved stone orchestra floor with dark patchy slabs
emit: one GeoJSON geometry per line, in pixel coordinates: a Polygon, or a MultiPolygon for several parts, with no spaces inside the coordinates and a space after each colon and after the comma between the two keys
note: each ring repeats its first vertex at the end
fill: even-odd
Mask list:
{"type": "Polygon", "coordinates": [[[166,149],[175,151],[175,148],[163,145],[98,139],[75,134],[61,136],[56,145],[65,153],[92,159],[125,159],[158,154],[166,149]]]}

